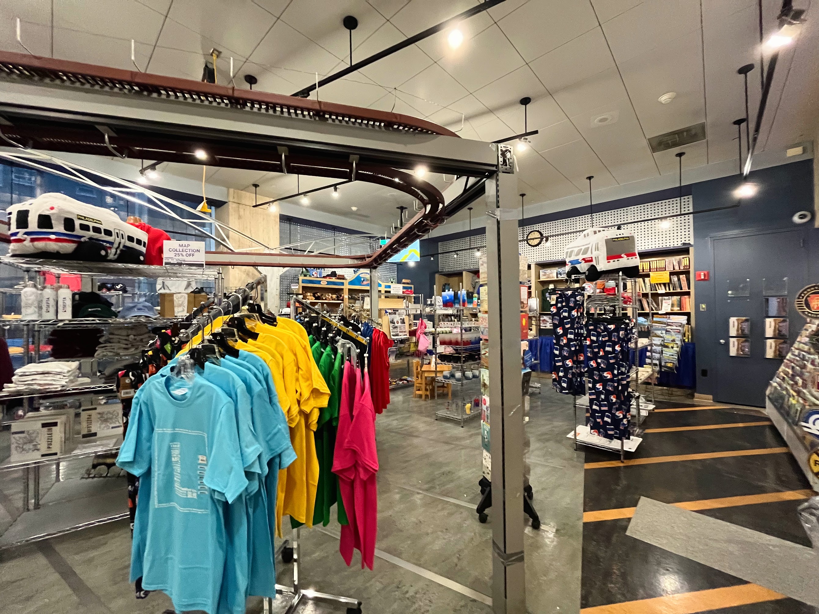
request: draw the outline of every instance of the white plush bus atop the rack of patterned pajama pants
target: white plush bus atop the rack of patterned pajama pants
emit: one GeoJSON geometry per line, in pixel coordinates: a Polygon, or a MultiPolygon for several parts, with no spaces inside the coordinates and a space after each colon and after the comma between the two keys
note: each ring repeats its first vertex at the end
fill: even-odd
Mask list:
{"type": "Polygon", "coordinates": [[[640,275],[634,233],[622,228],[589,228],[566,246],[566,277],[585,275],[596,282],[603,273],[622,271],[627,278],[640,275]]]}

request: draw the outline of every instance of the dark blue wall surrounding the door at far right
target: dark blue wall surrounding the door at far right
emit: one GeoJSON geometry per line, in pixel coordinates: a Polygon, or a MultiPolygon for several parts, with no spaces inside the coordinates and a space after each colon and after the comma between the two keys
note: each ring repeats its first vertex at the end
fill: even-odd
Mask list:
{"type": "MultiPolygon", "coordinates": [[[[759,192],[743,201],[735,209],[695,214],[694,267],[710,271],[713,252],[710,238],[723,233],[744,233],[760,230],[800,228],[805,238],[805,256],[808,258],[808,281],[819,281],[819,230],[813,220],[798,225],[791,221],[797,211],[813,211],[813,162],[802,160],[788,165],[773,166],[754,171],[749,180],[757,183],[759,192]]],[[[694,210],[708,210],[732,205],[736,199],[731,192],[740,184],[738,175],[695,183],[692,185],[694,210]]],[[[776,254],[756,254],[762,260],[776,258],[776,254]]],[[[693,275],[692,275],[693,278],[693,275]]],[[[697,392],[713,395],[716,386],[716,356],[718,337],[724,323],[716,322],[716,293],[713,272],[708,282],[695,284],[695,341],[697,344],[697,392]],[[705,311],[699,305],[705,303],[705,311]],[[710,377],[703,377],[703,369],[710,377]]],[[[801,323],[799,323],[801,327],[801,323]]],[[[724,336],[724,335],[722,335],[724,336]]]]}

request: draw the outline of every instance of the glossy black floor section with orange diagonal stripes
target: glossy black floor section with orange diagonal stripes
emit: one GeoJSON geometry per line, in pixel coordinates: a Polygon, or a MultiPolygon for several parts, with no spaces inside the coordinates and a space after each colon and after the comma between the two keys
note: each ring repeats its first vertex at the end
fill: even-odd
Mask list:
{"type": "Polygon", "coordinates": [[[583,614],[817,612],[799,578],[815,562],[796,515],[808,481],[762,413],[700,408],[658,402],[625,464],[586,451],[583,614]],[[761,544],[797,577],[747,560],[761,544]]]}

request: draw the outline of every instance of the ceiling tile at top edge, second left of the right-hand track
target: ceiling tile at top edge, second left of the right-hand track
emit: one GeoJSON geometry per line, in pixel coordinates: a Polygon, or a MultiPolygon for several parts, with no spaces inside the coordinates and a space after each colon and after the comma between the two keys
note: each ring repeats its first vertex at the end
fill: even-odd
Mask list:
{"type": "Polygon", "coordinates": [[[668,38],[698,31],[699,2],[692,0],[645,0],[631,11],[603,25],[618,64],[654,47],[663,47],[668,38]]]}

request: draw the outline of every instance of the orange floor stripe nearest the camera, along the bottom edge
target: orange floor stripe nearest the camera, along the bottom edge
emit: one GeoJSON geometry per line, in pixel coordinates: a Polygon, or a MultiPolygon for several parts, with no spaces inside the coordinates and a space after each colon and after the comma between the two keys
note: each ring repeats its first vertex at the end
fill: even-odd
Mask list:
{"type": "Polygon", "coordinates": [[[762,603],[784,598],[785,595],[771,589],[747,584],[626,603],[612,603],[607,606],[584,607],[580,612],[581,614],[697,614],[697,612],[708,612],[708,610],[717,610],[722,607],[744,606],[749,603],[762,603]]]}

